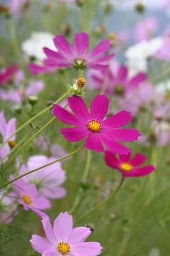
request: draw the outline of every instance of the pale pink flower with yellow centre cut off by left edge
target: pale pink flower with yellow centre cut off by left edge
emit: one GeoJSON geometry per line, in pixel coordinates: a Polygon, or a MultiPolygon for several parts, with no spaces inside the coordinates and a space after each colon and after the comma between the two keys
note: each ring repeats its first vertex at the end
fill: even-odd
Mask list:
{"type": "MultiPolygon", "coordinates": [[[[6,119],[4,118],[4,112],[0,112],[0,133],[2,135],[3,141],[6,141],[14,132],[16,129],[16,118],[11,118],[8,122],[6,122],[6,119]]],[[[0,149],[0,158],[3,159],[8,153],[10,152],[10,148],[15,147],[17,144],[15,142],[16,136],[14,135],[10,141],[8,141],[8,144],[6,143],[1,149],[0,149]]],[[[8,158],[3,160],[5,162],[8,158]]]]}

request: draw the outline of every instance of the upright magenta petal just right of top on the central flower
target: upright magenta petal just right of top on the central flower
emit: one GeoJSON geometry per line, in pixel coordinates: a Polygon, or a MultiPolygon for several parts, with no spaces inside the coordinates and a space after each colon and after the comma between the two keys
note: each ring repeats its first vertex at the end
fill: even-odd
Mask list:
{"type": "Polygon", "coordinates": [[[97,95],[91,102],[91,119],[102,121],[109,108],[109,99],[105,95],[97,95]]]}

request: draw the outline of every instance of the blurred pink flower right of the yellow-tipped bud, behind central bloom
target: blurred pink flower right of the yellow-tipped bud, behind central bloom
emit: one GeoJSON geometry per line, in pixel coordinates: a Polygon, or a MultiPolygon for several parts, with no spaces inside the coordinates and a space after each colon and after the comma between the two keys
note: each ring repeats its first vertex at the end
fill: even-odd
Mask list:
{"type": "Polygon", "coordinates": [[[113,61],[109,68],[102,68],[100,72],[91,73],[89,79],[89,86],[93,84],[93,88],[101,90],[105,87],[105,92],[125,95],[146,81],[147,76],[140,72],[134,77],[128,77],[128,68],[113,61]]]}

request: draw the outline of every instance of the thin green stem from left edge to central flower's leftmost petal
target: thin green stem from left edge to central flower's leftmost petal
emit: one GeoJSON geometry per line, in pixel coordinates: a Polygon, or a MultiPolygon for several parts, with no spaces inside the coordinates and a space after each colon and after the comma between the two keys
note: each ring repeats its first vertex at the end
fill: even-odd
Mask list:
{"type": "Polygon", "coordinates": [[[38,132],[36,132],[29,140],[27,140],[26,143],[24,143],[24,144],[22,145],[22,147],[20,147],[19,150],[13,155],[13,157],[10,159],[10,161],[8,162],[8,164],[6,164],[6,166],[4,167],[3,171],[2,171],[0,174],[2,174],[2,173],[5,172],[5,170],[10,166],[10,164],[11,164],[12,161],[15,159],[15,157],[17,157],[17,156],[19,155],[19,153],[22,151],[22,149],[23,149],[24,147],[26,147],[26,146],[29,144],[30,141],[32,141],[36,136],[38,136],[38,134],[40,134],[40,132],[42,132],[43,129],[45,129],[45,128],[46,128],[50,123],[52,123],[52,121],[54,121],[55,119],[56,119],[56,116],[53,116],[53,117],[49,120],[49,122],[47,122],[45,125],[43,125],[43,127],[42,127],[38,132]]]}

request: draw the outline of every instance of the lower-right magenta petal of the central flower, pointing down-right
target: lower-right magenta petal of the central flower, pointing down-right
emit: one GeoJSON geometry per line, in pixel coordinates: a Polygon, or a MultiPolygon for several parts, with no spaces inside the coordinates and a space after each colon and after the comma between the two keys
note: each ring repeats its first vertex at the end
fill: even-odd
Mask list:
{"type": "Polygon", "coordinates": [[[107,136],[104,133],[100,134],[100,138],[105,146],[108,148],[108,150],[113,153],[126,155],[130,152],[130,148],[121,145],[120,143],[118,143],[118,141],[114,140],[113,138],[107,136]]]}

